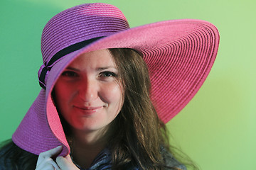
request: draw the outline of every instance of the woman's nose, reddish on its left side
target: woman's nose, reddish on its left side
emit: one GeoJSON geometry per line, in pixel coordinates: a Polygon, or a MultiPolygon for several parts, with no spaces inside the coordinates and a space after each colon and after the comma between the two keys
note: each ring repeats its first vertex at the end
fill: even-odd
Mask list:
{"type": "Polygon", "coordinates": [[[90,102],[97,98],[97,81],[92,79],[83,79],[80,83],[79,96],[82,101],[90,102]]]}

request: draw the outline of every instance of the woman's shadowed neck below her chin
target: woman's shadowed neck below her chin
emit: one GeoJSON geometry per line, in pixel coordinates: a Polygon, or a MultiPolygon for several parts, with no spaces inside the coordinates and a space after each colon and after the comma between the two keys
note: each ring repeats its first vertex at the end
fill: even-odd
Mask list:
{"type": "Polygon", "coordinates": [[[82,168],[89,168],[102,149],[107,147],[110,137],[110,130],[97,130],[84,132],[73,130],[73,151],[74,161],[82,168]]]}

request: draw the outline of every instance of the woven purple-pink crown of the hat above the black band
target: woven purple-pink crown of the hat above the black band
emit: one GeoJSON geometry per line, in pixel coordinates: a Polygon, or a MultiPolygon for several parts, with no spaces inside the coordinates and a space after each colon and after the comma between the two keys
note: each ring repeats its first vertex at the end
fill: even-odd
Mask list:
{"type": "Polygon", "coordinates": [[[41,38],[43,63],[55,53],[78,42],[127,30],[129,23],[110,4],[82,4],[58,13],[46,23],[41,38]]]}

